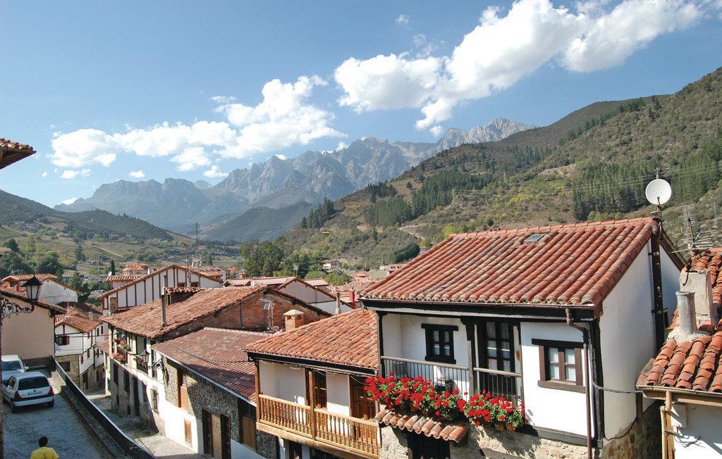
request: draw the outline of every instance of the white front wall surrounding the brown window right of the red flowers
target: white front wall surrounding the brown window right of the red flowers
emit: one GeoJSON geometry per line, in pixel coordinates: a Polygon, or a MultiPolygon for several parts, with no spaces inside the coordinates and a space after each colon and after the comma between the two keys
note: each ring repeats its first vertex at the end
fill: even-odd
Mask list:
{"type": "MultiPolygon", "coordinates": [[[[532,339],[556,339],[583,342],[582,333],[567,324],[521,323],[521,361],[524,404],[534,427],[554,429],[586,436],[584,394],[539,387],[539,346],[532,339]],[[563,414],[562,414],[563,413],[563,414]]],[[[586,362],[582,362],[582,371],[586,362]]],[[[592,427],[593,428],[593,427],[592,427]]]]}

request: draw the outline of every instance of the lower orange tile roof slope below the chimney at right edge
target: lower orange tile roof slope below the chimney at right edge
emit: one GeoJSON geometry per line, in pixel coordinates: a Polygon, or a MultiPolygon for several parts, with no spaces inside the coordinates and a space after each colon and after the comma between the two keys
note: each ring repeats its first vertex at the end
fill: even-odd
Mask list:
{"type": "Polygon", "coordinates": [[[667,341],[640,375],[638,386],[722,393],[722,331],[692,341],[667,341]]]}

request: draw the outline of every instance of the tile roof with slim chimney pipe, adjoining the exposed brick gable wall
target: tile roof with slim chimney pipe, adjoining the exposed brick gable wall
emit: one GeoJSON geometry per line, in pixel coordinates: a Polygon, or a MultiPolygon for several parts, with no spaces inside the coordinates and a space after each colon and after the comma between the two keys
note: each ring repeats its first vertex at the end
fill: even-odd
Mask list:
{"type": "Polygon", "coordinates": [[[199,289],[184,301],[170,303],[165,310],[166,326],[160,324],[160,299],[135,306],[128,311],[103,316],[100,320],[132,334],[160,338],[170,331],[190,324],[201,317],[221,311],[239,301],[260,293],[262,287],[231,287],[199,289]]]}

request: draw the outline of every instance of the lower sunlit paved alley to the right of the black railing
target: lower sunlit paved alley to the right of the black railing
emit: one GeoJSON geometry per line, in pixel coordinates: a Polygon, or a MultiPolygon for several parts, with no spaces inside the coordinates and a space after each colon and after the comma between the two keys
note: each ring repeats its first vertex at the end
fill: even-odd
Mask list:
{"type": "Polygon", "coordinates": [[[145,447],[155,455],[156,458],[183,458],[183,459],[203,459],[203,455],[199,455],[195,451],[183,445],[170,440],[164,435],[160,435],[155,430],[147,427],[133,416],[121,416],[110,409],[110,396],[105,391],[88,392],[88,398],[103,410],[106,416],[110,418],[116,426],[120,427],[126,435],[145,447]]]}

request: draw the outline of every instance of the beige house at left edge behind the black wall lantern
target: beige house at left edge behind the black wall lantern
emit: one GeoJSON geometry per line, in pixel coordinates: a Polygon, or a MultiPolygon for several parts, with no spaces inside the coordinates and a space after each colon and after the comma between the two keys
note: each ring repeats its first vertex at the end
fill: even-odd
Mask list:
{"type": "MultiPolygon", "coordinates": [[[[25,285],[25,284],[23,284],[25,285]]],[[[35,293],[40,288],[35,288],[35,293]]],[[[19,355],[29,367],[52,367],[55,355],[53,342],[54,317],[64,313],[64,309],[42,298],[31,299],[33,289],[25,286],[13,288],[0,287],[0,294],[24,310],[32,312],[10,315],[2,320],[2,354],[19,355]]]]}

